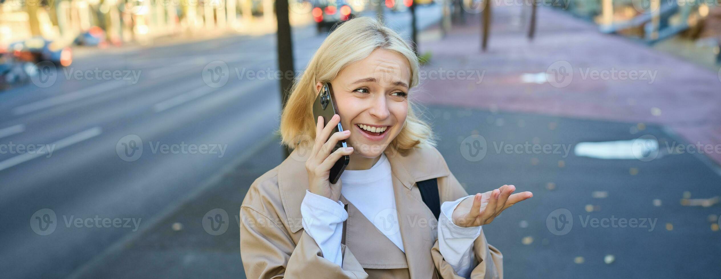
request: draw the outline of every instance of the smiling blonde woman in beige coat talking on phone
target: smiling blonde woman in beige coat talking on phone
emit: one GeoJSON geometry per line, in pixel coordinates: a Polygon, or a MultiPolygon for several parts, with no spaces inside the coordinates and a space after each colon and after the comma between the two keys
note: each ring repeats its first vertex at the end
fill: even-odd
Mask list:
{"type": "Polygon", "coordinates": [[[293,152],[255,180],[240,209],[248,278],[503,278],[481,226],[532,194],[504,185],[469,196],[412,110],[417,83],[416,55],[375,19],[327,37],[280,119],[293,152]],[[322,83],[340,114],[325,127],[311,109],[322,83]],[[331,134],[338,122],[348,130],[331,134]],[[351,147],[331,152],[341,139],[351,147]],[[350,163],[329,183],[343,155],[350,163]],[[438,216],[418,188],[428,180],[438,184],[438,216]]]}

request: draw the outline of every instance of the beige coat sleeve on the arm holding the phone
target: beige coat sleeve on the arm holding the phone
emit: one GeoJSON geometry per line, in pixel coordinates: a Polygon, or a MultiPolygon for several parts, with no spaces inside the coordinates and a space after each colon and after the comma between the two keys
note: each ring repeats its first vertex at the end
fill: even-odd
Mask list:
{"type": "Polygon", "coordinates": [[[304,230],[296,244],[277,215],[261,212],[255,206],[240,209],[240,256],[247,278],[368,278],[345,245],[341,267],[326,260],[304,230]]]}

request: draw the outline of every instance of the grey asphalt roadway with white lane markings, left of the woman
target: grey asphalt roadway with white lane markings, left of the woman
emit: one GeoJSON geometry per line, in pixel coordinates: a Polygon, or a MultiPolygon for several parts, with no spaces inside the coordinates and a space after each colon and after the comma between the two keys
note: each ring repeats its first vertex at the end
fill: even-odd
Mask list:
{"type": "MultiPolygon", "coordinates": [[[[421,27],[440,17],[419,13],[421,27]]],[[[324,35],[293,36],[303,68],[324,35]]],[[[89,55],[0,92],[4,277],[72,273],[263,143],[280,115],[274,45],[235,36],[89,55]]]]}

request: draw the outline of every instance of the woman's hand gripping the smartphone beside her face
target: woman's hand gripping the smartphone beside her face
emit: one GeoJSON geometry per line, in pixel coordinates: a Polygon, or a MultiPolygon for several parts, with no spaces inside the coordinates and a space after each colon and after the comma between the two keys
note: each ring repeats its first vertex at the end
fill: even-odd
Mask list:
{"type": "MultiPolygon", "coordinates": [[[[329,180],[331,168],[341,160],[353,153],[353,147],[342,147],[331,152],[339,140],[348,139],[350,130],[331,132],[336,129],[340,122],[340,116],[335,114],[328,124],[323,127],[323,116],[318,116],[316,123],[316,138],[311,154],[306,160],[306,171],[308,171],[308,184],[311,193],[338,201],[340,198],[340,183],[333,183],[329,180]],[[330,136],[330,137],[329,137],[330,136]],[[324,140],[324,139],[327,139],[324,140]]],[[[338,175],[340,177],[340,175],[338,175]]]]}

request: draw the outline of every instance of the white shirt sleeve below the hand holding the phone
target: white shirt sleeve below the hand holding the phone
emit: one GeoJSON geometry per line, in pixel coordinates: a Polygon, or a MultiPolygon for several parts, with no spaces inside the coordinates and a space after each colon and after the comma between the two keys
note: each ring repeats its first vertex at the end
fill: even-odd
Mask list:
{"type": "Polygon", "coordinates": [[[342,266],[340,241],[343,236],[343,221],[348,219],[343,203],[306,190],[306,196],[301,202],[301,216],[303,229],[316,241],[323,257],[342,266]]]}

